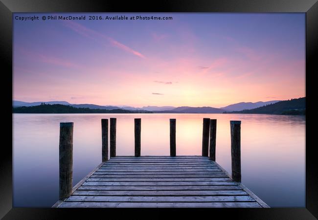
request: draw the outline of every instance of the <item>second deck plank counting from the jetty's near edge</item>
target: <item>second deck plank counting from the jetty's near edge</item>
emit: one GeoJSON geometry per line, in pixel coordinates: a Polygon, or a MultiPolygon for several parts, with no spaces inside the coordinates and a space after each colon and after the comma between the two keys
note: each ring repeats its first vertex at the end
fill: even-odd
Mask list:
{"type": "Polygon", "coordinates": [[[250,196],[70,196],[67,200],[73,202],[228,202],[255,201],[250,196]]]}

